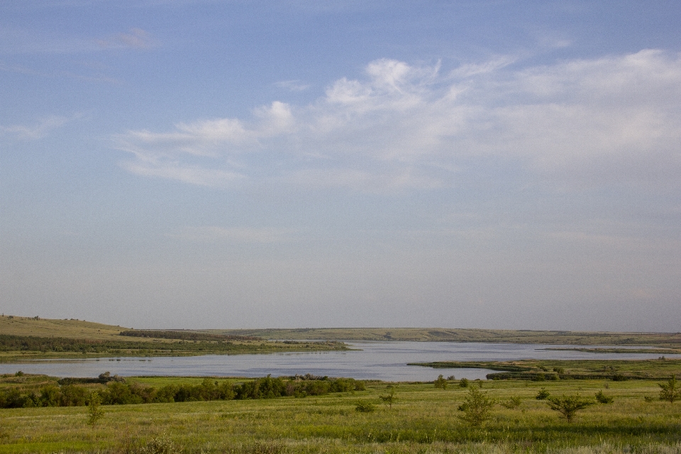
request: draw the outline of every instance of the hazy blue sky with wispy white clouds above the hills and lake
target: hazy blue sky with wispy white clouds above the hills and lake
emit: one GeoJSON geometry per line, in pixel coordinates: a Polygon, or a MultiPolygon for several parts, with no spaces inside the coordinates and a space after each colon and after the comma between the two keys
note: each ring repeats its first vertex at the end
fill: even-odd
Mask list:
{"type": "Polygon", "coordinates": [[[679,331],[678,1],[0,2],[0,310],[679,331]]]}

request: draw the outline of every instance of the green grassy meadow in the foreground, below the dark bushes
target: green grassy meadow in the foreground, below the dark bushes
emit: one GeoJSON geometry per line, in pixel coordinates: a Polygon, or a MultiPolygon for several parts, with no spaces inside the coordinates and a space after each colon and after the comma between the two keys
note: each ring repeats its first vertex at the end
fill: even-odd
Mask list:
{"type": "MultiPolygon", "coordinates": [[[[131,380],[160,386],[201,379],[131,380]]],[[[658,400],[653,381],[486,381],[489,397],[521,403],[494,406],[482,428],[458,418],[469,392],[458,382],[447,389],[400,383],[392,409],[379,399],[388,385],[301,399],[103,406],[95,426],[86,423],[87,407],[2,409],[0,453],[160,453],[144,450],[154,438],[182,453],[681,453],[681,402],[658,400]],[[567,423],[535,398],[542,388],[555,396],[602,391],[614,402],[589,406],[567,423]],[[355,411],[360,402],[376,411],[355,411]]]]}

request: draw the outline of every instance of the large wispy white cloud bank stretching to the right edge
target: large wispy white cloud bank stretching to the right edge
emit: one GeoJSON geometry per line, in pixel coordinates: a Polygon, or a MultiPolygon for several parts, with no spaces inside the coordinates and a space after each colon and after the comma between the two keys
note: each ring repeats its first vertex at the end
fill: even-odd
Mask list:
{"type": "Polygon", "coordinates": [[[441,187],[452,184],[445,169],[479,157],[575,179],[614,168],[626,179],[643,166],[654,184],[656,172],[681,170],[679,55],[642,50],[517,66],[497,57],[442,75],[439,65],[376,60],[365,79],[338,79],[308,105],[275,101],[248,119],[129,131],[116,143],[133,153],[124,163],[133,172],[220,187],[262,179],[366,191],[441,187]]]}

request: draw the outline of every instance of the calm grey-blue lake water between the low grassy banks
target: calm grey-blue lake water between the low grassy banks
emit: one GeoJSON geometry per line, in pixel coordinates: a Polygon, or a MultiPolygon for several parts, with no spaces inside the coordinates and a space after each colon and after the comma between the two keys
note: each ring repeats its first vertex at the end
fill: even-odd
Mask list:
{"type": "MultiPolygon", "coordinates": [[[[98,360],[43,360],[0,363],[0,373],[22,370],[31,374],[56,377],[96,377],[101,372],[122,376],[195,375],[224,377],[274,377],[306,373],[329,377],[353,377],[389,381],[428,381],[439,374],[455,375],[470,380],[481,378],[491,370],[431,369],[408,366],[407,362],[520,360],[535,359],[648,359],[659,354],[646,353],[582,353],[577,351],[542,350],[570,348],[574,345],[452,343],[452,342],[351,342],[360,351],[324,353],[277,353],[269,355],[205,355],[162,358],[99,358],[98,360]]],[[[593,347],[594,345],[588,345],[593,347]]],[[[585,347],[585,345],[580,345],[585,347]]],[[[681,358],[681,355],[665,355],[681,358]]]]}

